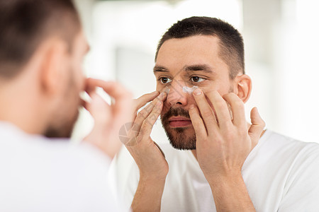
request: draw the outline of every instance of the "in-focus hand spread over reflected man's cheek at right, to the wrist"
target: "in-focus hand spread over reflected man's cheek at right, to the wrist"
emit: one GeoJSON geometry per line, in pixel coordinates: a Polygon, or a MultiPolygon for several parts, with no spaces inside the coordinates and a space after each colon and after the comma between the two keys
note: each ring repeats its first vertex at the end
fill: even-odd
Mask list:
{"type": "Polygon", "coordinates": [[[196,132],[196,155],[203,174],[210,184],[232,177],[238,179],[247,155],[259,141],[264,121],[254,107],[252,125],[248,129],[244,102],[235,93],[222,97],[217,91],[211,91],[205,95],[198,88],[193,94],[198,106],[191,105],[189,114],[196,132]]]}

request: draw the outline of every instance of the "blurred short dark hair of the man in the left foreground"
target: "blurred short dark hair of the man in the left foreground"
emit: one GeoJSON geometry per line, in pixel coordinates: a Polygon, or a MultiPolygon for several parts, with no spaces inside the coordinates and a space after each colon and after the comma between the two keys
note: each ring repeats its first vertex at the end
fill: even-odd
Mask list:
{"type": "Polygon", "coordinates": [[[71,49],[79,29],[72,0],[1,0],[0,77],[16,76],[49,36],[62,37],[71,49]]]}

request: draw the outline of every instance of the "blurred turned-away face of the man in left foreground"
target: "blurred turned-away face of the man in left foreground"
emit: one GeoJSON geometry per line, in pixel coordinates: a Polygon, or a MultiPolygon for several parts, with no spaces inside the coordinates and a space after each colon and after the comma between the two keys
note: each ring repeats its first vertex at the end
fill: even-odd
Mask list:
{"type": "Polygon", "coordinates": [[[82,62],[89,46],[81,32],[72,44],[72,51],[67,53],[64,75],[61,78],[60,100],[52,115],[52,122],[47,129],[47,137],[69,137],[79,115],[81,105],[79,94],[84,90],[82,62]]]}

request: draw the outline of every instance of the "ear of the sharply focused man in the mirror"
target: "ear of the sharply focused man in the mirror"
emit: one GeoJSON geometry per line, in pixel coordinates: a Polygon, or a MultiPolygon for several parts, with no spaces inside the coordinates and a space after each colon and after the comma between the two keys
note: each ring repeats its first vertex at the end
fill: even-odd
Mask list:
{"type": "Polygon", "coordinates": [[[234,93],[242,100],[247,102],[252,93],[252,80],[246,74],[238,75],[235,78],[234,93]]]}

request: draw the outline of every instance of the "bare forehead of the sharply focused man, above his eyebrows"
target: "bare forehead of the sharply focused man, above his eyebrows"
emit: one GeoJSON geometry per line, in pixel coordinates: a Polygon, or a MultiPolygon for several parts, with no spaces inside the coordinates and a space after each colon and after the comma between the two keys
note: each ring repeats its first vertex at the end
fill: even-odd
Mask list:
{"type": "Polygon", "coordinates": [[[156,65],[225,64],[219,57],[219,39],[212,35],[196,35],[170,39],[160,47],[156,65]]]}

